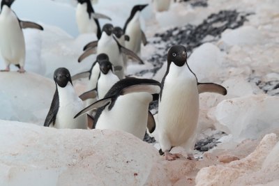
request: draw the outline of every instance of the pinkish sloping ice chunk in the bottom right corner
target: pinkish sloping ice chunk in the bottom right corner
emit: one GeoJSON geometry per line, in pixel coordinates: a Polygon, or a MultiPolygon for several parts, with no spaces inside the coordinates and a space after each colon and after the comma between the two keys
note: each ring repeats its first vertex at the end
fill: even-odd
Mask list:
{"type": "Polygon", "coordinates": [[[278,180],[278,146],[276,134],[267,134],[254,152],[242,160],[201,169],[195,179],[196,185],[255,185],[278,180]],[[265,162],[270,156],[272,163],[269,162],[269,169],[266,169],[265,162]]]}

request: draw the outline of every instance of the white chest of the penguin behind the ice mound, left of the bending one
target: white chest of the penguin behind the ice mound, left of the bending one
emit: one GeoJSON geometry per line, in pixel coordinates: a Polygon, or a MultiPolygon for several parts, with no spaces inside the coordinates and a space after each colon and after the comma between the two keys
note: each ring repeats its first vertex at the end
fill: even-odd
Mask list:
{"type": "MultiPolygon", "coordinates": [[[[69,85],[67,85],[69,86],[69,85]]],[[[77,97],[73,87],[59,88],[59,109],[56,115],[54,127],[56,128],[87,128],[86,114],[74,118],[75,114],[84,108],[82,100],[77,97]],[[63,90],[65,89],[65,90],[63,90]]]]}

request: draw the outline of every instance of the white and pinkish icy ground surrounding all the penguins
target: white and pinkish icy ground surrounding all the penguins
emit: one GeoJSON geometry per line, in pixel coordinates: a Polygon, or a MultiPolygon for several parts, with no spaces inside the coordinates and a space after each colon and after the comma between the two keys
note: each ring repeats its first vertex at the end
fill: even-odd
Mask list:
{"type": "MultiPolygon", "coordinates": [[[[148,2],[99,0],[94,8],[123,26],[134,4],[148,2]]],[[[167,50],[183,44],[199,82],[228,90],[200,95],[199,161],[166,162],[158,144],[130,134],[38,126],[50,107],[54,70],[89,69],[95,55],[82,63],[77,58],[96,36],[78,36],[75,1],[15,1],[20,19],[45,30],[24,30],[27,73],[0,73],[0,185],[279,185],[278,7],[277,0],[191,0],[172,3],[167,12],[154,13],[152,6],[142,12],[145,65],[130,63],[128,75],[161,81],[167,50]]],[[[78,94],[85,84],[74,84],[78,94]]],[[[181,147],[174,152],[186,155],[181,147]]]]}

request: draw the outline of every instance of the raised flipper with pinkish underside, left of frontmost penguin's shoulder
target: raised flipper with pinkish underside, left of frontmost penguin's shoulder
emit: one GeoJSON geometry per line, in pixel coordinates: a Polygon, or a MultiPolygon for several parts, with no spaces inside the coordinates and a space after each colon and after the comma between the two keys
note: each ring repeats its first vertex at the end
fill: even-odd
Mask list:
{"type": "Polygon", "coordinates": [[[123,88],[120,95],[126,95],[128,93],[160,93],[160,84],[135,84],[123,88]]]}

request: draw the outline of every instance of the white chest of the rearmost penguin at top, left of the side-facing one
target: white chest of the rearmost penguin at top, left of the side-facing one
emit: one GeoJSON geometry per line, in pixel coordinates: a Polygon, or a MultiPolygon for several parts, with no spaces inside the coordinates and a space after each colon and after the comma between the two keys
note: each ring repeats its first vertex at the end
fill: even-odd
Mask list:
{"type": "Polygon", "coordinates": [[[93,17],[89,17],[89,13],[87,13],[86,8],[86,3],[77,4],[77,10],[75,12],[77,28],[80,33],[97,33],[97,24],[93,17]]]}

